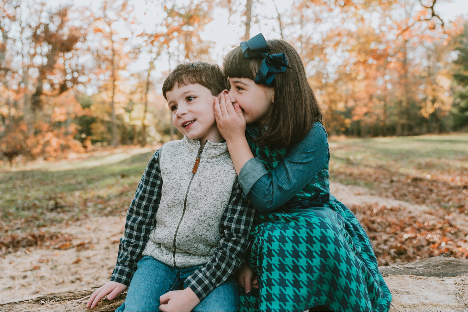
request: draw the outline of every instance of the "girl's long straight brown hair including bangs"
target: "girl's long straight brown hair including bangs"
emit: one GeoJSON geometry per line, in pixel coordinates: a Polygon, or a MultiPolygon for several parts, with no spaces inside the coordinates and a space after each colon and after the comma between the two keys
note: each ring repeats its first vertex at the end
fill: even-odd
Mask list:
{"type": "MultiPolygon", "coordinates": [[[[266,131],[255,141],[278,148],[292,146],[307,135],[315,122],[322,123],[322,110],[314,91],[307,82],[306,70],[297,51],[281,39],[267,40],[268,54],[285,52],[291,69],[277,73],[273,82],[265,87],[275,88],[275,101],[266,123],[266,131]]],[[[227,53],[223,60],[224,73],[230,78],[255,80],[263,58],[245,58],[241,47],[227,53]]]]}

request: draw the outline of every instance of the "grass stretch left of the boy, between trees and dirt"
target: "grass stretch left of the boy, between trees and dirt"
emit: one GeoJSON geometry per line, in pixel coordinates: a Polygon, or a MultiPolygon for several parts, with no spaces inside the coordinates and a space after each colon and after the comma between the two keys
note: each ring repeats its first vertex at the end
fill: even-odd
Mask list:
{"type": "Polygon", "coordinates": [[[118,155],[124,160],[101,155],[46,163],[42,169],[0,172],[2,235],[94,215],[124,215],[153,153],[128,157],[123,152],[118,155]],[[77,165],[83,168],[73,169],[77,165]]]}

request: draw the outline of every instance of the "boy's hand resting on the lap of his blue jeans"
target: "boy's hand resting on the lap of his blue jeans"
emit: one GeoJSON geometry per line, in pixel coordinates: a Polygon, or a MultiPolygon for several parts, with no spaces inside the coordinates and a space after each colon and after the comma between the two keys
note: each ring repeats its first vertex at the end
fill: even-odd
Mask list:
{"type": "Polygon", "coordinates": [[[190,287],[166,292],[159,297],[159,301],[160,311],[192,311],[200,303],[200,299],[190,287]]]}

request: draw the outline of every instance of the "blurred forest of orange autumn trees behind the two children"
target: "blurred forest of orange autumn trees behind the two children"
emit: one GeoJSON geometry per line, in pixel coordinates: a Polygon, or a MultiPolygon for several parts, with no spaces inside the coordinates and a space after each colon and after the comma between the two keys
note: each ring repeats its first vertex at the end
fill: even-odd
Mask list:
{"type": "Polygon", "coordinates": [[[0,4],[0,146],[11,165],[180,137],[161,84],[180,62],[221,64],[231,47],[203,36],[214,15],[233,46],[254,27],[297,47],[330,135],[468,130],[467,20],[444,20],[437,0],[0,4]]]}

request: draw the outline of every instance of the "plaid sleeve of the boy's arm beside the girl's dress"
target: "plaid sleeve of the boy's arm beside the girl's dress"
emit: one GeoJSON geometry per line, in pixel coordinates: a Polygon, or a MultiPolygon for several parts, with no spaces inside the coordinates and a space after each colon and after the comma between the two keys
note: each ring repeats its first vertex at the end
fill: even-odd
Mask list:
{"type": "Polygon", "coordinates": [[[210,260],[185,280],[185,285],[195,292],[200,301],[244,264],[243,256],[250,247],[249,234],[254,215],[255,209],[242,196],[239,183],[235,183],[219,225],[219,245],[210,260]]]}

